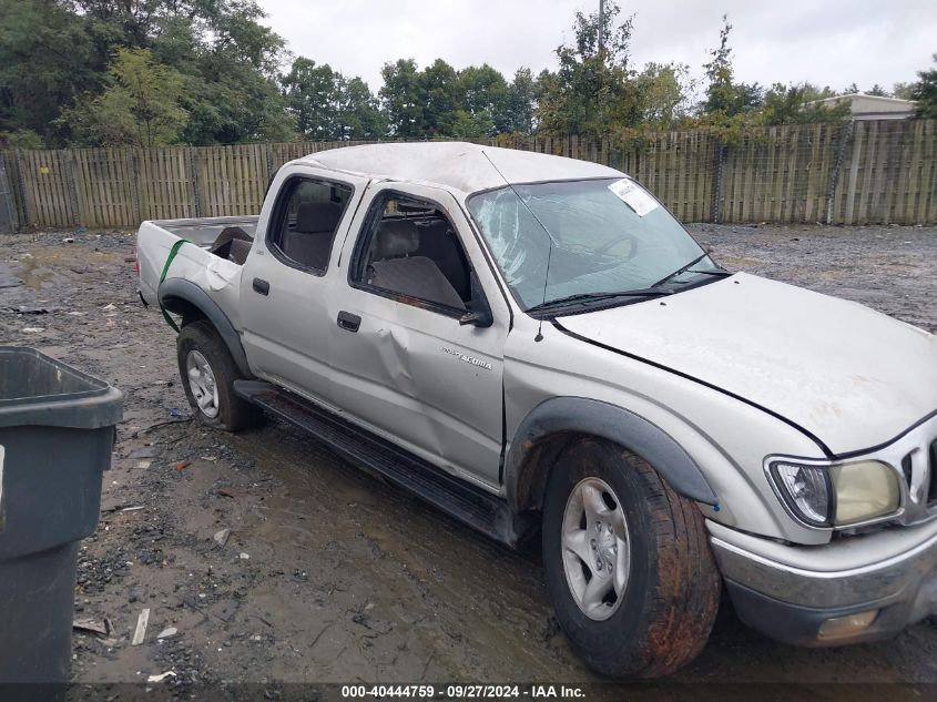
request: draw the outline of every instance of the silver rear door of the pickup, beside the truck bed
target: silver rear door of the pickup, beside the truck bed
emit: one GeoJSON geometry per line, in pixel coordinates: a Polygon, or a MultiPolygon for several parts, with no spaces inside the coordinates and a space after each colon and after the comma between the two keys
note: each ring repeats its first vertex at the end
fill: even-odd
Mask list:
{"type": "Polygon", "coordinates": [[[329,404],[328,277],[366,179],[286,166],[271,185],[241,286],[244,347],[263,378],[329,404]],[[274,190],[276,189],[276,190],[274,190]],[[335,242],[338,244],[335,244],[335,242]]]}

